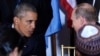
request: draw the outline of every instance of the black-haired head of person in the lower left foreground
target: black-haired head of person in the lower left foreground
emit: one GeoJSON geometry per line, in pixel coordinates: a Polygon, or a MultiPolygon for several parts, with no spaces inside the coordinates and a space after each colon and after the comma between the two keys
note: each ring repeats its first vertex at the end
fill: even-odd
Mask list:
{"type": "Polygon", "coordinates": [[[27,38],[22,37],[14,28],[0,26],[0,56],[7,56],[15,47],[22,50],[27,38]]]}

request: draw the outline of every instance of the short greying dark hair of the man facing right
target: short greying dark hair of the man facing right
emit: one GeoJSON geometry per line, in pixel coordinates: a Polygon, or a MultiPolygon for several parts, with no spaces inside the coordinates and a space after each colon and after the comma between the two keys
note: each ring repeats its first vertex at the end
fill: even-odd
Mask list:
{"type": "Polygon", "coordinates": [[[27,11],[32,11],[32,12],[37,13],[37,10],[33,5],[28,4],[28,3],[21,3],[16,6],[16,8],[14,10],[14,16],[23,17],[23,13],[25,13],[27,11]]]}

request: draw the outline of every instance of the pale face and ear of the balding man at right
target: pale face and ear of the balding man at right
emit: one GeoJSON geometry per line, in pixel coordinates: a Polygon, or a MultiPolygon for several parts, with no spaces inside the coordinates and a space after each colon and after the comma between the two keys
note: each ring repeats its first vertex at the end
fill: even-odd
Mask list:
{"type": "Polygon", "coordinates": [[[71,20],[72,20],[72,27],[77,32],[85,24],[85,19],[82,16],[76,17],[75,10],[76,9],[72,11],[71,20]]]}

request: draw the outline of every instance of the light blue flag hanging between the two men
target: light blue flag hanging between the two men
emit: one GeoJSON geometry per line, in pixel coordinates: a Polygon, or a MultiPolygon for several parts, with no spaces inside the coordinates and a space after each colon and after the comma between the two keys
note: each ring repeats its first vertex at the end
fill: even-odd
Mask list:
{"type": "Polygon", "coordinates": [[[54,33],[57,33],[62,27],[59,14],[58,0],[51,0],[51,6],[53,17],[45,33],[46,46],[48,46],[48,37],[54,33]]]}

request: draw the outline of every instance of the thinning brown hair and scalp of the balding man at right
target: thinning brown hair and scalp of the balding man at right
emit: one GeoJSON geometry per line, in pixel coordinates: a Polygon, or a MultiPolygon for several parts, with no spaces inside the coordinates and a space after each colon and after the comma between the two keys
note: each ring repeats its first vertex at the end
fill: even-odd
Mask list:
{"type": "Polygon", "coordinates": [[[96,9],[88,3],[79,4],[76,7],[75,14],[77,17],[80,15],[85,17],[85,19],[89,22],[98,20],[96,9]]]}

